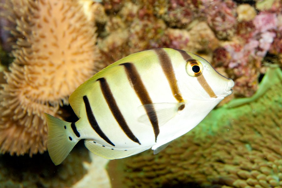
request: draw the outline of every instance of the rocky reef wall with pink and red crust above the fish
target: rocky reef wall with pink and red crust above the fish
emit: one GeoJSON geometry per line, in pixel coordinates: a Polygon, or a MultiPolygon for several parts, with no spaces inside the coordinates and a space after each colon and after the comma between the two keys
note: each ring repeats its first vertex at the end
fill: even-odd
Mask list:
{"type": "Polygon", "coordinates": [[[103,1],[98,27],[101,62],[109,64],[148,48],[180,48],[212,60],[235,81],[236,97],[250,97],[264,74],[261,62],[267,53],[282,62],[282,3],[251,2],[103,1]]]}

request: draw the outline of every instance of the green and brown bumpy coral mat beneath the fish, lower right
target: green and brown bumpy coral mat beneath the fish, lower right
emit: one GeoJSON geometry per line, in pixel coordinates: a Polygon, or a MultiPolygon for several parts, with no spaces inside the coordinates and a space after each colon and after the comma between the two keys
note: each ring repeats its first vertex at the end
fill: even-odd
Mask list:
{"type": "Polygon", "coordinates": [[[212,111],[159,154],[110,161],[112,187],[282,186],[281,83],[271,66],[257,96],[212,111]]]}

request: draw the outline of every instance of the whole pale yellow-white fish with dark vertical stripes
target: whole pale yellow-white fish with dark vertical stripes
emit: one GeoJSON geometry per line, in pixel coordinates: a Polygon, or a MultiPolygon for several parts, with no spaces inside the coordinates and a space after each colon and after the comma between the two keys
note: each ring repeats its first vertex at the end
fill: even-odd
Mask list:
{"type": "Polygon", "coordinates": [[[70,95],[77,122],[45,114],[50,158],[59,165],[81,139],[106,159],[150,148],[157,154],[200,123],[233,86],[190,52],[154,48],[128,55],[70,95]]]}

